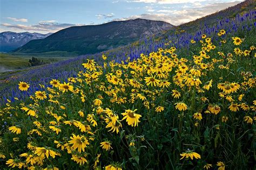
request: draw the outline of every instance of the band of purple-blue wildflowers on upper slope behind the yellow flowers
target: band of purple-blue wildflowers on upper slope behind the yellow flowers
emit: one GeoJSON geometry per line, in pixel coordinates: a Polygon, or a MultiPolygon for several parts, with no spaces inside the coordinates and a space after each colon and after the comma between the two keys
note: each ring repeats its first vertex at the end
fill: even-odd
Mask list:
{"type": "MultiPolygon", "coordinates": [[[[180,29],[171,29],[170,31],[165,31],[164,33],[160,34],[160,36],[142,38],[131,45],[105,51],[104,54],[108,56],[109,60],[116,60],[117,62],[120,62],[121,60],[126,60],[128,56],[130,56],[130,59],[133,60],[139,58],[141,53],[149,54],[152,51],[157,51],[158,48],[170,48],[174,46],[178,49],[176,52],[177,55],[187,56],[188,54],[193,54],[190,50],[191,39],[199,40],[201,39],[201,34],[206,33],[208,37],[215,37],[214,42],[219,43],[219,37],[217,36],[216,32],[221,29],[225,29],[234,36],[249,37],[247,40],[250,40],[250,43],[253,44],[254,39],[256,39],[255,26],[253,25],[255,22],[254,18],[256,12],[253,6],[254,3],[252,1],[242,2],[241,4],[231,7],[231,9],[234,9],[232,13],[228,12],[230,11],[230,8],[228,8],[220,11],[221,15],[218,13],[213,14],[214,16],[222,17],[223,19],[221,20],[211,17],[212,15],[210,15],[209,20],[207,20],[208,16],[206,16],[204,17],[206,23],[198,23],[198,20],[194,21],[194,24],[193,22],[190,22],[188,23],[190,26],[187,26],[185,32],[177,33],[176,31],[180,29]],[[243,12],[241,6],[244,6],[245,4],[246,6],[243,8],[245,8],[246,11],[243,12]],[[237,10],[237,15],[234,17],[235,10],[237,10]],[[225,22],[226,20],[229,22],[225,22]],[[210,24],[207,25],[207,23],[210,24]],[[201,29],[189,29],[192,26],[201,27],[201,29]]],[[[11,95],[12,93],[15,93],[17,97],[24,97],[23,93],[17,89],[17,83],[19,81],[33,82],[33,85],[31,85],[31,88],[27,92],[27,95],[30,95],[33,94],[37,89],[36,84],[45,84],[45,82],[49,82],[51,79],[57,78],[60,80],[66,80],[66,77],[76,75],[79,70],[83,69],[81,64],[85,62],[86,59],[95,59],[96,61],[103,63],[101,56],[102,53],[81,55],[77,58],[59,61],[40,68],[31,68],[29,71],[21,70],[18,73],[0,75],[0,80],[8,81],[8,83],[1,83],[0,81],[0,96],[2,96],[2,103],[5,103],[6,98],[14,100],[11,95]],[[40,77],[40,79],[38,79],[38,77],[40,77]]]]}

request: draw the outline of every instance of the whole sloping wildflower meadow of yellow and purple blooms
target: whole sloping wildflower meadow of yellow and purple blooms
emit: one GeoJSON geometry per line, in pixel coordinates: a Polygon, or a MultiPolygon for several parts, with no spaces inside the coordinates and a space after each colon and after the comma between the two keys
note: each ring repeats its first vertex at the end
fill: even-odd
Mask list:
{"type": "Polygon", "coordinates": [[[0,167],[255,169],[256,11],[224,13],[2,75],[0,167]]]}

